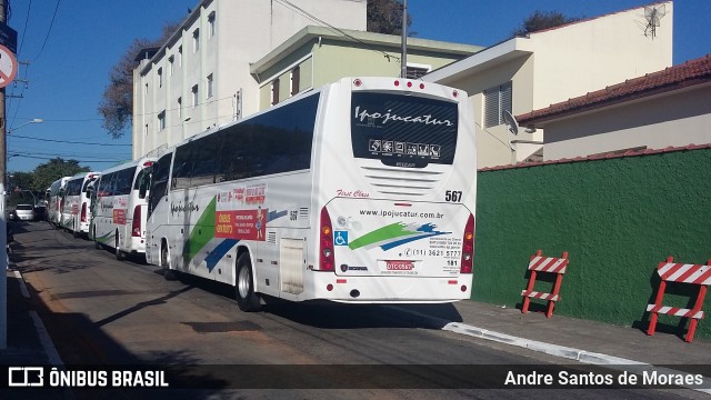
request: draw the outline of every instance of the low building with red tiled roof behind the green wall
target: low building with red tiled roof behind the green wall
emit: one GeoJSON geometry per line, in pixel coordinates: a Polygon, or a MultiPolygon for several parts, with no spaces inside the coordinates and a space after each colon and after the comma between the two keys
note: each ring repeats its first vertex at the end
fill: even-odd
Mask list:
{"type": "Polygon", "coordinates": [[[545,160],[711,143],[711,54],[518,116],[545,160]]]}

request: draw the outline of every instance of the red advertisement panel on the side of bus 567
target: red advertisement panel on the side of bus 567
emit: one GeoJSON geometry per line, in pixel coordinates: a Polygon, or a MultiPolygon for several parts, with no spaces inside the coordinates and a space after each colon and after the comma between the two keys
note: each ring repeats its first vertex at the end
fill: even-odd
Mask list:
{"type": "Polygon", "coordinates": [[[264,240],[268,209],[228,210],[214,213],[214,237],[237,240],[264,240]]]}

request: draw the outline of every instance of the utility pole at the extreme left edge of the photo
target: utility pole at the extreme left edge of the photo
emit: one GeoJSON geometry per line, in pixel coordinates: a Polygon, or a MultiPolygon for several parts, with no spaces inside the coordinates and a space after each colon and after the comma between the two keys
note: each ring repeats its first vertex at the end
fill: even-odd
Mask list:
{"type": "MultiPolygon", "coordinates": [[[[0,0],[0,23],[7,23],[6,0],[0,0]]],[[[6,221],[4,179],[7,174],[7,141],[4,87],[0,88],[0,350],[8,347],[8,221],[6,221]]]]}

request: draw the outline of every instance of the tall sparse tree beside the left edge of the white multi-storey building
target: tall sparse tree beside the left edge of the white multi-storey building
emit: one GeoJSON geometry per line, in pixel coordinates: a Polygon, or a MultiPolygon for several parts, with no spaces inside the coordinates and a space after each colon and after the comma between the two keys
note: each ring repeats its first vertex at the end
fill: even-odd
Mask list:
{"type": "Polygon", "coordinates": [[[178,30],[179,22],[169,22],[157,40],[136,39],[109,72],[109,86],[103,90],[99,113],[103,128],[113,139],[121,138],[133,122],[133,70],[140,61],[136,58],[142,49],[161,47],[178,30]]]}

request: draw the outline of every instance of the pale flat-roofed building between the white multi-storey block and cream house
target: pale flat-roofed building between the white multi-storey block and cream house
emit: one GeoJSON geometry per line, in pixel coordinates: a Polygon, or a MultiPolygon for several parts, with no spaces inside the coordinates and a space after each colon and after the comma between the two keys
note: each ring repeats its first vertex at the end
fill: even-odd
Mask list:
{"type": "MultiPolygon", "coordinates": [[[[343,77],[399,77],[399,36],[307,27],[251,64],[260,86],[260,110],[300,92],[343,77]]],[[[408,39],[408,77],[417,79],[434,69],[483,49],[418,38],[408,39]]]]}

